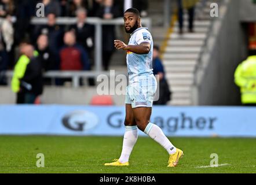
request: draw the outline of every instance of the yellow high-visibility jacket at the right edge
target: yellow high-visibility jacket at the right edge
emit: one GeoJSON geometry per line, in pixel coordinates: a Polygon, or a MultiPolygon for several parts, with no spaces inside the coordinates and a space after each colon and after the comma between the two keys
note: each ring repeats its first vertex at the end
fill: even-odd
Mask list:
{"type": "Polygon", "coordinates": [[[250,56],[237,66],[235,83],[240,87],[241,101],[256,103],[256,56],[250,56]]]}

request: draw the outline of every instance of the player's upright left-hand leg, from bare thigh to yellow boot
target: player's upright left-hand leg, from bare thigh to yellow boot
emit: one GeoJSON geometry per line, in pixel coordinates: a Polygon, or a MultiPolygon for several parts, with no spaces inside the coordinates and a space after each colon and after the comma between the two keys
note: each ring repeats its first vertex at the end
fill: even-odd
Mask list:
{"type": "Polygon", "coordinates": [[[125,135],[123,137],[123,149],[118,161],[108,163],[108,166],[127,166],[134,145],[138,138],[138,129],[134,119],[131,104],[126,104],[125,135]]]}

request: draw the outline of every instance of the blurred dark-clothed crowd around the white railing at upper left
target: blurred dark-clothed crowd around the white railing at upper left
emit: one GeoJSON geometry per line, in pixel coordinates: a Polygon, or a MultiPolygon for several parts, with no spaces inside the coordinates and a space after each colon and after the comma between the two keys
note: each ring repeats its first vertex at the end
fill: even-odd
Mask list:
{"type": "MultiPolygon", "coordinates": [[[[122,17],[131,6],[147,16],[147,0],[1,0],[0,1],[0,73],[13,69],[24,43],[34,46],[43,70],[91,70],[94,64],[94,26],[87,17],[122,17]],[[32,25],[36,4],[45,5],[46,25],[32,25]],[[16,21],[11,21],[16,17],[16,21]],[[57,17],[77,17],[74,25],[57,25],[57,17]]],[[[103,25],[103,69],[108,70],[114,53],[115,27],[103,25]]],[[[0,84],[6,80],[0,77],[0,84]]]]}

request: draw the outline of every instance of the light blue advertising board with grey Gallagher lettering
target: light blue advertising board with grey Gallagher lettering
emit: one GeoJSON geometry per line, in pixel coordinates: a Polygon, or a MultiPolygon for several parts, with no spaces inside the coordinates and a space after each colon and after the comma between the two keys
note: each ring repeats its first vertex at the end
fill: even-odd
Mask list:
{"type": "MultiPolygon", "coordinates": [[[[254,114],[249,107],[154,106],[151,122],[167,136],[256,137],[254,114]]],[[[124,119],[124,106],[0,105],[0,135],[122,136],[124,119]]]]}

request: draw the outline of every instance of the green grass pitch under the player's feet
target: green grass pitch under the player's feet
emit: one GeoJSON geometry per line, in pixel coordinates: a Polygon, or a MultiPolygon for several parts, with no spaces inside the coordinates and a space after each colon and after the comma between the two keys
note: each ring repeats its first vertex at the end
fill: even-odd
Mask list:
{"type": "Polygon", "coordinates": [[[167,168],[168,154],[155,141],[139,137],[130,166],[109,167],[118,158],[122,137],[0,136],[0,173],[256,173],[255,138],[170,138],[184,150],[175,168],[167,168]],[[43,153],[45,167],[36,166],[43,153]],[[211,153],[218,164],[211,168],[211,153]]]}

